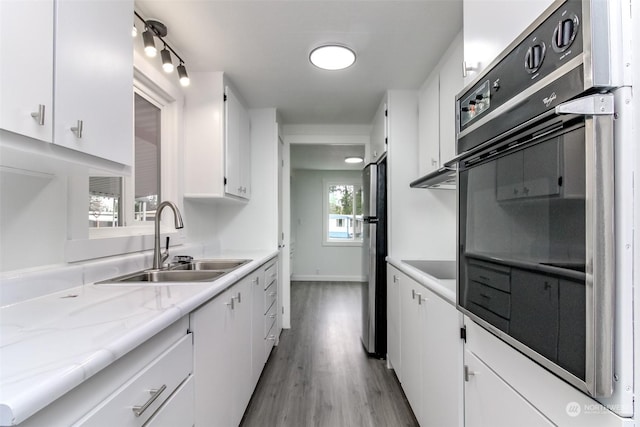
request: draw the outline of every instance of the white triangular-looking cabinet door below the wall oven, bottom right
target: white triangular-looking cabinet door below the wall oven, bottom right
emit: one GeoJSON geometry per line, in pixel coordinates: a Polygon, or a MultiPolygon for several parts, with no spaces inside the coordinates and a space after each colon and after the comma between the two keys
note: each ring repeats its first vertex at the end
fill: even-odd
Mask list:
{"type": "Polygon", "coordinates": [[[464,353],[465,427],[552,426],[538,410],[469,350],[464,353]]]}

